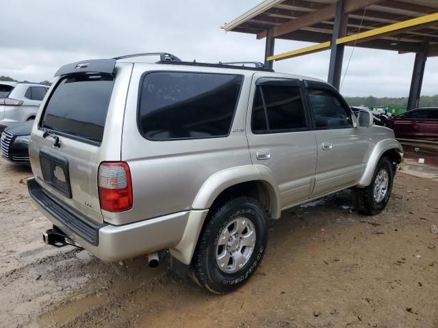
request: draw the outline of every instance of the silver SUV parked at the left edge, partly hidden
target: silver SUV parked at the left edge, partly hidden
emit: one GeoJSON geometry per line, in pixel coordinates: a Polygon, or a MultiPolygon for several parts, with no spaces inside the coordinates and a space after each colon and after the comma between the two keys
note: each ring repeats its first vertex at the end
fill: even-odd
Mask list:
{"type": "Polygon", "coordinates": [[[47,85],[0,81],[0,133],[16,122],[34,120],[47,85]]]}

